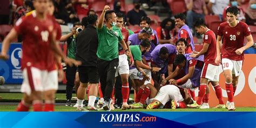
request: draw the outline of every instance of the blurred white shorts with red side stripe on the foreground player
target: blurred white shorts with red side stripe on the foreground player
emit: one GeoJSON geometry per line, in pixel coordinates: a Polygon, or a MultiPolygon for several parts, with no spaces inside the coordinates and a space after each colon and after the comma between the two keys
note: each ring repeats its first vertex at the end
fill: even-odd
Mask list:
{"type": "Polygon", "coordinates": [[[27,95],[31,94],[31,90],[48,91],[58,89],[58,71],[39,70],[35,67],[25,68],[23,70],[23,83],[21,92],[27,95]]]}

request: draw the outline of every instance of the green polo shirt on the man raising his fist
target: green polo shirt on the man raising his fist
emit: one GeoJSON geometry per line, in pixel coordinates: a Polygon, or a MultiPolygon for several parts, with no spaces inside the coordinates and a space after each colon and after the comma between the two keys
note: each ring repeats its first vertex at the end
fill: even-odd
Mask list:
{"type": "Polygon", "coordinates": [[[123,40],[122,32],[116,26],[112,30],[103,25],[102,29],[97,29],[99,45],[97,56],[103,60],[113,60],[118,58],[118,42],[123,40]]]}

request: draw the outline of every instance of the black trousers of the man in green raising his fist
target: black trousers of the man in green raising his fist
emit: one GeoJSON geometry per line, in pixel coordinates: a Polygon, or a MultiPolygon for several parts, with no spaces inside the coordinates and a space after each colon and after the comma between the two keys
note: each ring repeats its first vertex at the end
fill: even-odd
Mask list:
{"type": "Polygon", "coordinates": [[[118,67],[118,58],[113,60],[98,59],[98,73],[100,87],[104,100],[109,101],[114,87],[114,75],[118,67]]]}

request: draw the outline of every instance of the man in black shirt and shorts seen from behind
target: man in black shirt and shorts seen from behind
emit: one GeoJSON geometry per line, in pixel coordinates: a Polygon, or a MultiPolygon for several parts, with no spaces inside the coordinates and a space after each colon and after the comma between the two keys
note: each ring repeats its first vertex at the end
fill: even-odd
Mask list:
{"type": "Polygon", "coordinates": [[[87,110],[97,110],[94,106],[99,83],[96,55],[98,48],[98,35],[96,31],[96,24],[98,23],[97,15],[89,15],[87,22],[89,25],[77,37],[76,59],[82,62],[82,65],[78,66],[80,78],[80,86],[77,92],[78,111],[85,110],[82,103],[86,95],[88,83],[90,83],[90,89],[88,91],[89,102],[87,110]]]}

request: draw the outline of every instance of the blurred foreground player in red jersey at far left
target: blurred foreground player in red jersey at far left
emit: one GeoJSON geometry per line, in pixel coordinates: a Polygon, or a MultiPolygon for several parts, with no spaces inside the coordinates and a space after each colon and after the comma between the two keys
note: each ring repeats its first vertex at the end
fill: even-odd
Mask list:
{"type": "Polygon", "coordinates": [[[20,18],[4,39],[0,58],[9,58],[7,52],[11,41],[17,35],[22,35],[24,80],[21,91],[24,92],[24,97],[17,110],[29,111],[32,100],[33,110],[43,111],[44,92],[46,102],[44,110],[53,111],[54,94],[58,89],[56,56],[63,57],[70,65],[72,63],[78,65],[79,62],[66,58],[56,42],[57,26],[55,19],[48,14],[49,0],[35,0],[33,5],[36,10],[31,15],[20,18]]]}

